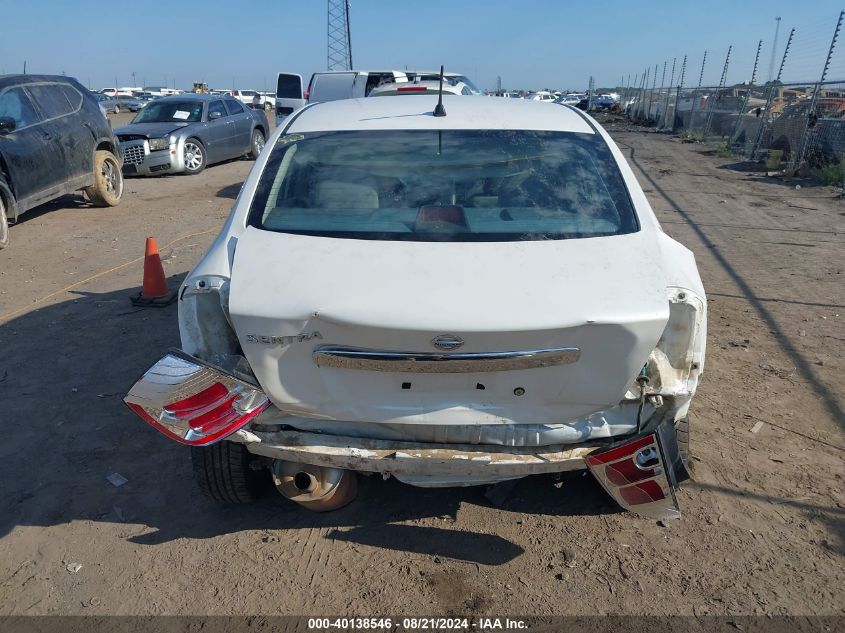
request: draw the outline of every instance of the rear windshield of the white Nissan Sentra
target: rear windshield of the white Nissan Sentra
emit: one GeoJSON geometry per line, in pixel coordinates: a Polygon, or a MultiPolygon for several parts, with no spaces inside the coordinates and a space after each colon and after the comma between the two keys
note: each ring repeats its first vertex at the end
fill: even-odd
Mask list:
{"type": "Polygon", "coordinates": [[[454,242],[638,229],[600,136],[523,130],[282,136],[261,175],[250,224],[326,237],[454,242]]]}

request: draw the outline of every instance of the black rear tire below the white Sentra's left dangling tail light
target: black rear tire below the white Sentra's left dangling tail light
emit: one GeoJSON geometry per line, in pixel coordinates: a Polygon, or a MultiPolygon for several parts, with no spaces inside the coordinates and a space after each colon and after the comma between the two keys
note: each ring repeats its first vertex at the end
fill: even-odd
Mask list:
{"type": "Polygon", "coordinates": [[[253,470],[255,458],[243,444],[222,441],[192,446],[191,462],[200,492],[215,501],[249,503],[261,497],[271,479],[266,470],[253,470]]]}

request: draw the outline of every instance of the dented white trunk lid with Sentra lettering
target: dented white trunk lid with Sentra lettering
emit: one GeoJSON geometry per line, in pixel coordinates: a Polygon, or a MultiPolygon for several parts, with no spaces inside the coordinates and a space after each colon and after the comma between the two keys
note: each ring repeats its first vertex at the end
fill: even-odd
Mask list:
{"type": "MultiPolygon", "coordinates": [[[[562,423],[618,403],[669,316],[655,238],[441,243],[248,228],[229,311],[270,399],[324,419],[562,423]],[[577,348],[574,362],[458,373],[318,366],[315,349],[454,353],[577,348]]],[[[589,431],[585,429],[585,434],[589,431]]]]}

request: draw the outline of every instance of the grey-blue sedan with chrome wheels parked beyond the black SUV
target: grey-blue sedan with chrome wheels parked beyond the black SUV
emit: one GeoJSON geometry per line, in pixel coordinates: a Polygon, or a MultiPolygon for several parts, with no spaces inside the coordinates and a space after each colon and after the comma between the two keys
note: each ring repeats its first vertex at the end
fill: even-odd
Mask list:
{"type": "Polygon", "coordinates": [[[198,174],[211,163],[257,158],[269,130],[263,111],[231,96],[184,94],[150,102],[115,134],[123,173],[152,176],[198,174]]]}

